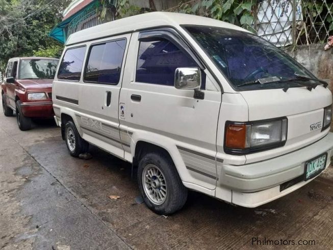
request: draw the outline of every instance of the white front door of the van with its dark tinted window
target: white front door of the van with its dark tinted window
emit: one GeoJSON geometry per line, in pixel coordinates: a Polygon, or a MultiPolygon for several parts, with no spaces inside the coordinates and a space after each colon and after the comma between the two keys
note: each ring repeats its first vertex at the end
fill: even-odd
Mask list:
{"type": "MultiPolygon", "coordinates": [[[[211,81],[209,72],[198,65],[182,40],[177,42],[180,37],[174,32],[166,29],[132,35],[129,58],[133,61],[127,58],[127,63],[134,73],[124,76],[120,106],[125,112],[120,113],[120,127],[171,138],[184,161],[186,174],[181,175],[182,180],[215,189],[221,92],[206,90],[206,83],[211,81]],[[178,67],[201,68],[203,99],[194,98],[194,90],[174,87],[178,67]]],[[[159,140],[156,143],[163,144],[159,140]]]]}

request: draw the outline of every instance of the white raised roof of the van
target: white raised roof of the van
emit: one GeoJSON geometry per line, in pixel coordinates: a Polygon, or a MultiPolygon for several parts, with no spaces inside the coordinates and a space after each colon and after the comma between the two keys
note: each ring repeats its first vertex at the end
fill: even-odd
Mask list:
{"type": "Polygon", "coordinates": [[[125,17],[115,21],[106,22],[79,32],[75,32],[68,37],[66,45],[99,39],[102,37],[113,36],[116,34],[130,33],[137,30],[149,29],[154,27],[178,27],[181,24],[214,26],[249,32],[234,24],[208,17],[174,12],[149,12],[131,17],[125,17]]]}

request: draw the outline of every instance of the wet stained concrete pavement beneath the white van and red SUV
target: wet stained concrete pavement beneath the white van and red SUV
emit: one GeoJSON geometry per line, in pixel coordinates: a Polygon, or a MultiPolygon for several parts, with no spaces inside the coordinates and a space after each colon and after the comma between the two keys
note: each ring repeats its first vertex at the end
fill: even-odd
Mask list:
{"type": "Polygon", "coordinates": [[[190,192],[180,212],[164,217],[136,203],[139,190],[130,164],[93,146],[90,153],[91,160],[73,158],[52,121],[22,132],[15,117],[5,117],[1,109],[0,248],[333,246],[332,167],[260,208],[234,207],[190,192]]]}

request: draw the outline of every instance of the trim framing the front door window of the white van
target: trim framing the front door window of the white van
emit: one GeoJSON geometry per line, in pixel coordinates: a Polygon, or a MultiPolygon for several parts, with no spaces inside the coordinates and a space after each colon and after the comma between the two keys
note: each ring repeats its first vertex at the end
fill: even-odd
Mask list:
{"type": "MultiPolygon", "coordinates": [[[[141,42],[147,42],[147,41],[157,41],[157,40],[168,40],[169,42],[173,43],[178,49],[180,49],[181,52],[183,52],[185,55],[189,56],[198,66],[198,68],[204,73],[205,69],[208,69],[205,67],[205,65],[202,63],[202,60],[197,57],[196,53],[193,52],[192,47],[183,39],[183,37],[180,36],[180,34],[173,28],[158,28],[158,29],[150,29],[150,30],[143,30],[140,31],[138,34],[137,42],[138,42],[138,51],[136,54],[136,63],[135,63],[135,76],[134,76],[134,82],[135,83],[143,83],[143,84],[151,84],[151,85],[157,85],[157,86],[167,86],[167,87],[173,87],[173,85],[166,85],[166,84],[158,84],[158,83],[146,83],[146,82],[139,82],[137,81],[137,69],[138,69],[138,59],[139,59],[139,52],[140,52],[140,43],[141,42]]],[[[209,70],[210,71],[210,70],[209,70]]],[[[204,73],[206,74],[206,73],[204,73]]],[[[207,76],[202,78],[201,81],[206,80],[207,76]]],[[[205,86],[206,90],[206,83],[204,83],[201,86],[205,86]]]]}

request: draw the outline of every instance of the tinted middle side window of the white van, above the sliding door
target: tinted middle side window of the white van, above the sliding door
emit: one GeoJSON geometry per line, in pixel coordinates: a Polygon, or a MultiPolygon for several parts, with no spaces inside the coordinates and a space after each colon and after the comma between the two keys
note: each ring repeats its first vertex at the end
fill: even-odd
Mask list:
{"type": "Polygon", "coordinates": [[[91,46],[84,81],[118,84],[125,47],[126,40],[91,46]]]}

